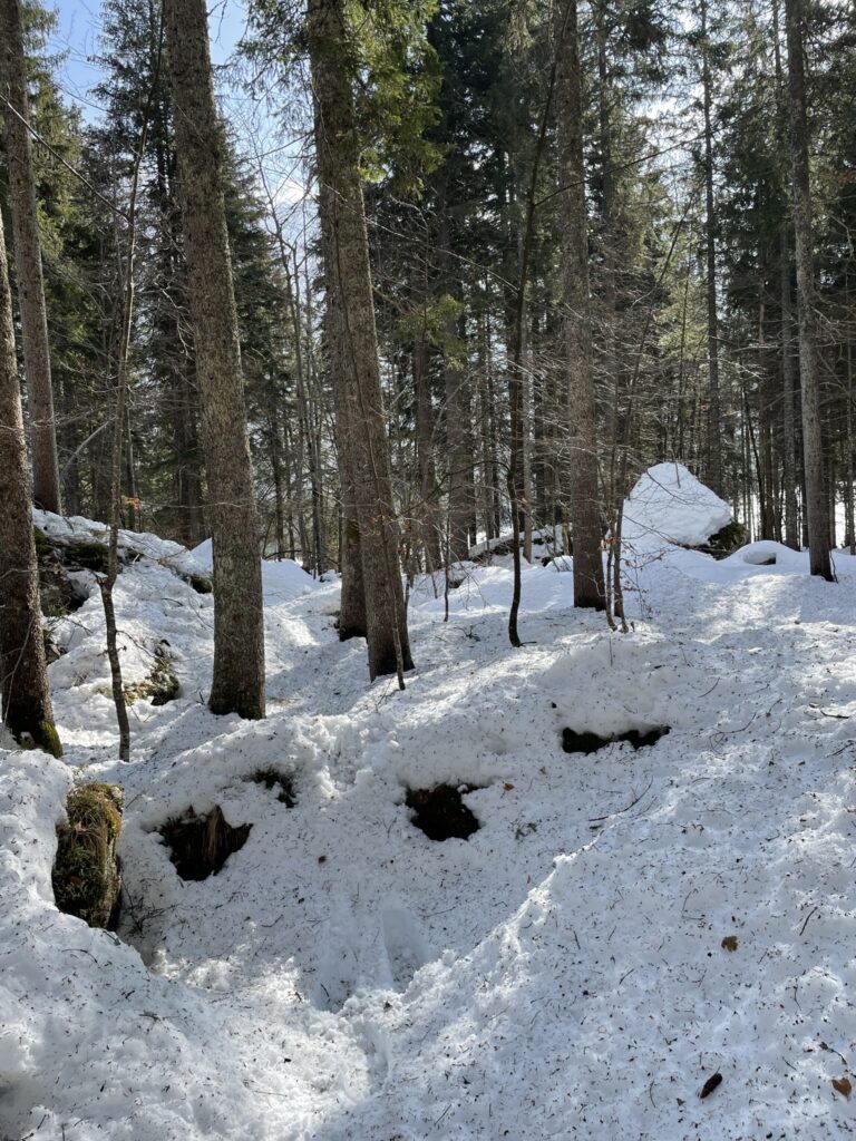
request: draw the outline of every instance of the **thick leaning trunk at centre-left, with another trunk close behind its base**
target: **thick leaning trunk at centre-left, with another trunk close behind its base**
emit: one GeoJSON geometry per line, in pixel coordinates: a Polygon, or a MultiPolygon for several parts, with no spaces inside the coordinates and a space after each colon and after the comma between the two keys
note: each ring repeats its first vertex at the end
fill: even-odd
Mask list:
{"type": "MultiPolygon", "coordinates": [[[[354,60],[344,0],[309,0],[315,148],[329,323],[342,466],[353,480],[365,596],[369,673],[412,667],[398,566],[398,526],[380,389],[360,149],[350,87],[354,60]]],[[[347,510],[347,504],[346,504],[347,510]]],[[[349,570],[346,563],[344,573],[349,570]]],[[[342,586],[345,591],[345,584],[342,586]]]]}

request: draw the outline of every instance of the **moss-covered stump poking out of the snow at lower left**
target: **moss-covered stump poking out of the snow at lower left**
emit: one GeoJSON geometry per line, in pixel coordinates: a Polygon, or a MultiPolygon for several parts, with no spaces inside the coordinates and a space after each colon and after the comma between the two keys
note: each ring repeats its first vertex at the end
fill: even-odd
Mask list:
{"type": "Polygon", "coordinates": [[[116,844],[123,808],[119,785],[82,785],[68,793],[68,823],[57,826],[56,905],[92,928],[112,930],[119,919],[122,876],[116,844]]]}

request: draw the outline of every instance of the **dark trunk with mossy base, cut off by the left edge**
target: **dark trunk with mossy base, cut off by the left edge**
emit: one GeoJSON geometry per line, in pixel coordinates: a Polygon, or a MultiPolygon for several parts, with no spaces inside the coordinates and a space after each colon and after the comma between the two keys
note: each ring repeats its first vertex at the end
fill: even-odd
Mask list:
{"type": "Polygon", "coordinates": [[[45,665],[30,468],[15,359],[11,293],[0,225],[0,696],[16,741],[62,755],[45,665]]]}

